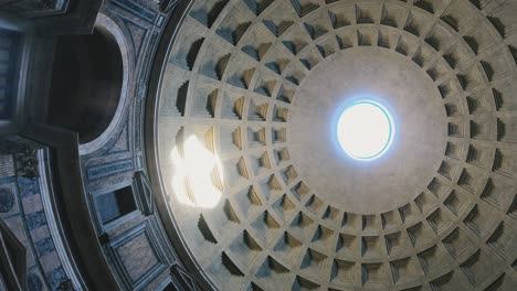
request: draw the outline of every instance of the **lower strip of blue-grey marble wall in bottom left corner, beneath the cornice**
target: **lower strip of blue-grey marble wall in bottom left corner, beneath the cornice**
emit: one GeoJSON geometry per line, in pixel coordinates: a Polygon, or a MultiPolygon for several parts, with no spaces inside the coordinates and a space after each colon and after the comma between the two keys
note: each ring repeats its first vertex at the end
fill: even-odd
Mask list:
{"type": "MultiPolygon", "coordinates": [[[[51,235],[38,153],[42,144],[0,140],[0,218],[27,248],[28,290],[59,290],[70,283],[51,235]]],[[[40,154],[41,157],[41,154],[40,154]]]]}

